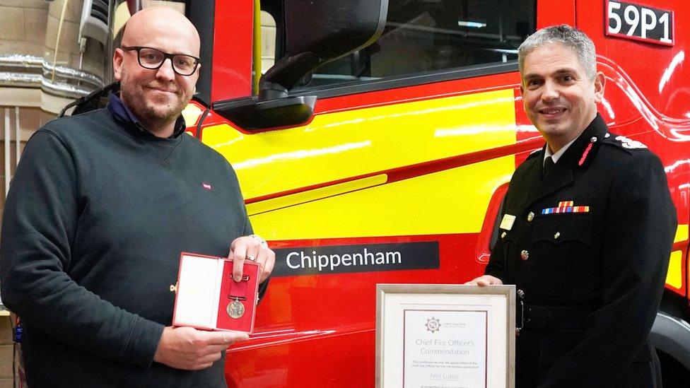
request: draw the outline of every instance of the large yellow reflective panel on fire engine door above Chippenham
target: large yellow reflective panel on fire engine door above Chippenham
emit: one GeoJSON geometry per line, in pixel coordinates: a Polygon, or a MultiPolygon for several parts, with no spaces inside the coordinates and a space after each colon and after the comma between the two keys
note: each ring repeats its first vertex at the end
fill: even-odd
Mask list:
{"type": "MultiPolygon", "coordinates": [[[[259,134],[222,124],[204,129],[201,140],[230,160],[243,195],[255,198],[515,144],[515,101],[513,89],[494,90],[319,114],[304,127],[259,134]]],[[[381,184],[379,175],[248,208],[257,233],[270,239],[478,233],[493,191],[514,170],[509,155],[392,184],[381,184]]]]}

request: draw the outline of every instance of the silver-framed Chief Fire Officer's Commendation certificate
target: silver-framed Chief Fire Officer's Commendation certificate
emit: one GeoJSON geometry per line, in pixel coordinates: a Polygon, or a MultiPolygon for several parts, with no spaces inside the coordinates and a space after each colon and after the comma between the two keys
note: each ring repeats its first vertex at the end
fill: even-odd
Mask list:
{"type": "Polygon", "coordinates": [[[515,286],[378,284],[376,387],[515,387],[515,286]]]}

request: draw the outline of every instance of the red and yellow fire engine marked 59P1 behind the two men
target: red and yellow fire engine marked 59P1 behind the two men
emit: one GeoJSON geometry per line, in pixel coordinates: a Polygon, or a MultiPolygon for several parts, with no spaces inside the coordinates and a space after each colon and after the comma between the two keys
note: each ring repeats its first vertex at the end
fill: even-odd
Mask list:
{"type": "Polygon", "coordinates": [[[277,255],[255,333],[228,351],[231,387],[371,387],[376,284],[483,273],[510,177],[543,145],[517,47],[561,23],[595,42],[609,128],[665,165],[679,225],[652,336],[665,384],[689,384],[689,4],[233,0],[185,13],[202,42],[189,134],[235,167],[277,255]]]}

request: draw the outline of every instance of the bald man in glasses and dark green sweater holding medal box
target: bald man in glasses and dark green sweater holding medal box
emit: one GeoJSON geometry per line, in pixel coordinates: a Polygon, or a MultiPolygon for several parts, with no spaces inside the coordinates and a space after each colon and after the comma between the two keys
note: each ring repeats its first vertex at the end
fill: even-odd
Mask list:
{"type": "Polygon", "coordinates": [[[226,385],[225,351],[247,335],[170,326],[180,252],[232,257],[235,278],[255,260],[262,292],[275,255],[252,235],[233,168],[185,134],[198,57],[187,18],[146,8],[112,59],[119,98],[28,141],[0,237],[28,386],[226,385]]]}

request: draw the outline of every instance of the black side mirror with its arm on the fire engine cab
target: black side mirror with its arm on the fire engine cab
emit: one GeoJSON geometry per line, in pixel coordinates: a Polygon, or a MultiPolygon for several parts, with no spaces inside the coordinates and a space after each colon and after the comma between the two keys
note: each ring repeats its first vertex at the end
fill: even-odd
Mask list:
{"type": "Polygon", "coordinates": [[[259,80],[258,98],[221,102],[214,110],[245,129],[307,122],[316,97],[288,97],[288,91],[318,66],[375,42],[387,13],[388,0],[283,0],[284,56],[259,80]]]}

